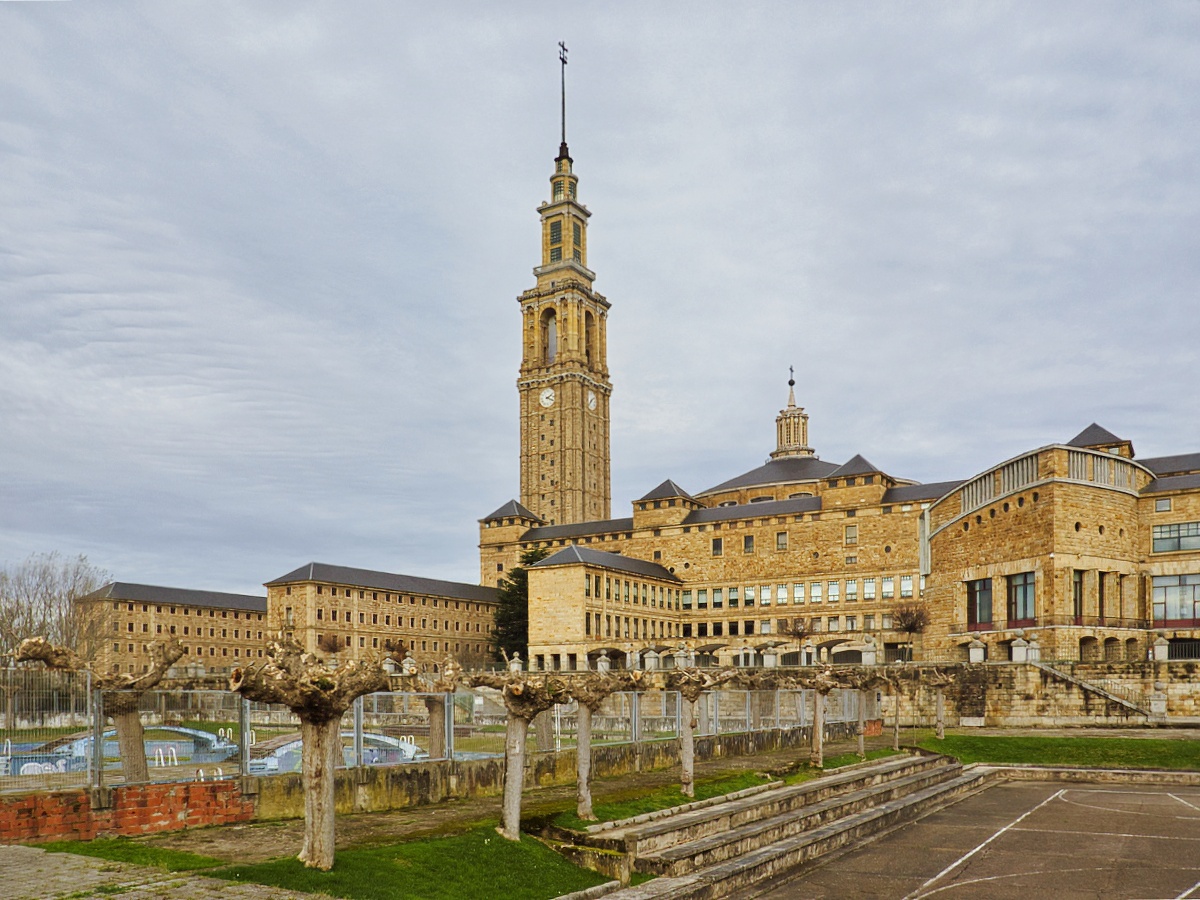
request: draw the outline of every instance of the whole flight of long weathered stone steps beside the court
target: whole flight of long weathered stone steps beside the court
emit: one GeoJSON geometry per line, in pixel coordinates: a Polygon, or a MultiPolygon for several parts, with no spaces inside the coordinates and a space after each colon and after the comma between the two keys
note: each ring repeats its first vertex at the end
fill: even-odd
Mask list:
{"type": "Polygon", "coordinates": [[[632,871],[659,876],[611,898],[746,896],[978,790],[983,779],[941,756],[890,757],[798,785],[775,782],[593,826],[575,844],[624,854],[632,871]]]}

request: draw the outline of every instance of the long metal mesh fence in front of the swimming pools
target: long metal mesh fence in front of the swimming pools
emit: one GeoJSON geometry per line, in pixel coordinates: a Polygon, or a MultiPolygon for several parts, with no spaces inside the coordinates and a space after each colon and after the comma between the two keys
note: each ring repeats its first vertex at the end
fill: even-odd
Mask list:
{"type": "MultiPolygon", "coordinates": [[[[145,778],[193,781],[271,775],[301,768],[300,720],[284,706],[252,703],[228,691],[152,690],[140,695],[91,690],[86,673],[0,670],[0,791],[30,791],[139,780],[140,726],[145,778]],[[122,710],[134,710],[137,715],[122,710]]],[[[834,690],[827,722],[853,722],[859,698],[877,718],[876,695],[834,690]]],[[[673,691],[608,696],[592,719],[594,745],[676,739],[683,704],[673,691]]],[[[696,733],[728,734],[805,726],[812,692],[706,694],[696,733]]],[[[504,754],[506,712],[491,690],[457,694],[383,692],[360,697],[342,719],[342,764],[400,766],[478,760],[504,754]]],[[[576,745],[578,708],[556,706],[538,716],[530,749],[576,745]]]]}

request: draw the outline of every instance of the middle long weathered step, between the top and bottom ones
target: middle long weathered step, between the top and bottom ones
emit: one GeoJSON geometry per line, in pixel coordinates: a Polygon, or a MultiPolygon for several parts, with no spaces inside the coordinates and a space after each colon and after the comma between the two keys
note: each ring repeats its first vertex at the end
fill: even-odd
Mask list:
{"type": "Polygon", "coordinates": [[[935,788],[952,781],[961,772],[961,766],[946,763],[868,785],[859,790],[836,793],[800,809],[755,818],[685,844],[677,844],[644,854],[638,852],[634,859],[634,866],[638,871],[654,875],[686,875],[697,869],[716,865],[726,859],[778,844],[787,838],[812,832],[827,823],[847,820],[863,810],[935,788]]]}

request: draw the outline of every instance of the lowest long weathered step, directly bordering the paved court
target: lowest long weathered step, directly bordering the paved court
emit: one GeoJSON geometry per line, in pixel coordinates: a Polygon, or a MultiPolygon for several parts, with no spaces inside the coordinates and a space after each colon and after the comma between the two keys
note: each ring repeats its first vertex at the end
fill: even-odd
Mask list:
{"type": "Polygon", "coordinates": [[[654,878],[607,896],[611,900],[716,900],[745,896],[790,877],[822,856],[919,818],[982,788],[986,772],[971,770],[914,793],[866,806],[844,818],[682,876],[654,878]]]}

